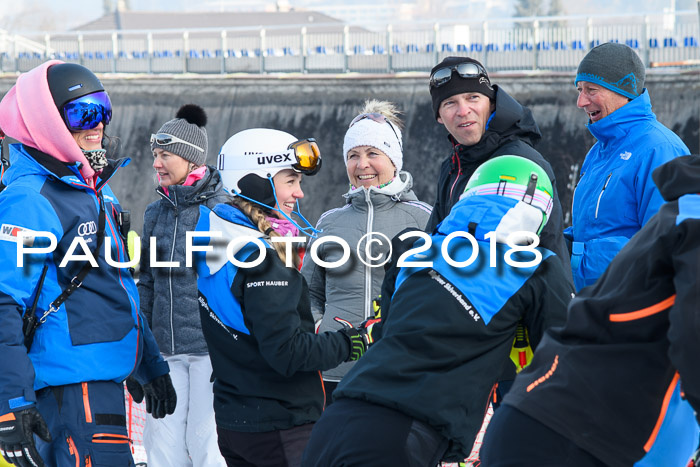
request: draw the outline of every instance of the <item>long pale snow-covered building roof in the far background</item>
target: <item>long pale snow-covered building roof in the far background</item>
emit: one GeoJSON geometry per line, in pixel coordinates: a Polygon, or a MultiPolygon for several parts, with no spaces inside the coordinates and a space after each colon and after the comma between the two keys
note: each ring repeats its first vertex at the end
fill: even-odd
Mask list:
{"type": "Polygon", "coordinates": [[[76,27],[75,31],[157,30],[157,29],[229,29],[244,27],[284,26],[338,30],[345,24],[317,11],[288,12],[144,12],[122,11],[110,13],[76,27]],[[315,25],[319,25],[315,27],[315,25]]]}

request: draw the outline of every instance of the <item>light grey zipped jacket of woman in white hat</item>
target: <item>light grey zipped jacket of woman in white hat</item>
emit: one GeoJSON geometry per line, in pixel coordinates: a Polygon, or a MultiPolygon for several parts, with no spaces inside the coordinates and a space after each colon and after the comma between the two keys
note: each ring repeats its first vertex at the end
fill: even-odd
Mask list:
{"type": "MultiPolygon", "coordinates": [[[[357,244],[368,232],[379,232],[389,240],[405,228],[419,230],[425,228],[430,217],[429,204],[418,201],[411,189],[413,177],[408,172],[400,172],[389,185],[378,189],[350,190],[343,195],[347,204],[331,209],[321,215],[317,229],[323,230],[319,238],[335,235],[344,239],[350,246],[350,258],[342,266],[327,269],[315,264],[311,255],[312,240],[307,246],[307,254],[301,273],[309,284],[311,312],[314,321],[321,321],[318,332],[340,329],[341,325],[333,318],[343,318],[357,326],[373,316],[372,299],[381,291],[384,267],[369,267],[357,256],[357,244]]],[[[365,251],[365,243],[360,246],[365,251]]],[[[319,259],[334,262],[342,256],[337,243],[327,242],[319,246],[319,259]]],[[[372,244],[371,256],[386,257],[387,242],[372,244]]],[[[365,259],[366,262],[368,262],[365,259]]],[[[325,371],[327,381],[340,381],[352,367],[352,363],[342,363],[337,368],[325,371]]]]}

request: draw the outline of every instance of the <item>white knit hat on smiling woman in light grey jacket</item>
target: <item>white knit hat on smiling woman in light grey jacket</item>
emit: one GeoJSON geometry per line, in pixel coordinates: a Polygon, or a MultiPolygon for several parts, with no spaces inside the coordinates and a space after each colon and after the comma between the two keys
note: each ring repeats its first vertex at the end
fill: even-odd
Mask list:
{"type": "Polygon", "coordinates": [[[348,165],[348,152],[358,146],[372,146],[386,154],[400,172],[403,167],[403,152],[401,150],[401,130],[393,123],[375,122],[364,118],[348,128],[343,141],[343,160],[348,165]]]}

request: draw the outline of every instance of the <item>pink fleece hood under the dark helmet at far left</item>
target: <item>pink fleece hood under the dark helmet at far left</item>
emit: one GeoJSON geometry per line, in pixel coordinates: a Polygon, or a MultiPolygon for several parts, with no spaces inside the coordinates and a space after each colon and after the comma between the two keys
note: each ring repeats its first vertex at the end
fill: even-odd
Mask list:
{"type": "Polygon", "coordinates": [[[95,171],[75,142],[51,96],[46,70],[63,63],[50,60],[22,73],[0,101],[0,128],[10,138],[63,162],[80,162],[80,173],[91,180],[95,171]]]}

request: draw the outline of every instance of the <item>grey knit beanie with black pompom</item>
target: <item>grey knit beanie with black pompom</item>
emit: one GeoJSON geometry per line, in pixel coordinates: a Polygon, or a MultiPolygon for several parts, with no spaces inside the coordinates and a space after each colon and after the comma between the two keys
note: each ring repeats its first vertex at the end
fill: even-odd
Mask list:
{"type": "Polygon", "coordinates": [[[161,148],[172,154],[176,154],[185,160],[192,162],[196,166],[203,165],[207,160],[207,149],[209,146],[207,130],[207,114],[200,106],[195,104],[185,104],[177,111],[175,118],[165,122],[158,134],[174,136],[183,141],[187,141],[202,149],[181,142],[170,144],[158,144],[157,138],[151,138],[151,151],[161,148]]]}

